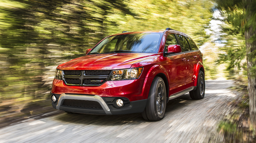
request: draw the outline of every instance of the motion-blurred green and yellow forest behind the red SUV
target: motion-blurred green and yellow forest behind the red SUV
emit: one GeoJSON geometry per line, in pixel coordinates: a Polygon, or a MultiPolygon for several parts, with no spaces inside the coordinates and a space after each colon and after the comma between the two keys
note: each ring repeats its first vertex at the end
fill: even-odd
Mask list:
{"type": "Polygon", "coordinates": [[[245,29],[256,15],[246,19],[246,1],[253,0],[0,0],[0,115],[51,110],[56,67],[122,31],[182,31],[203,53],[206,80],[247,88],[245,29]]]}

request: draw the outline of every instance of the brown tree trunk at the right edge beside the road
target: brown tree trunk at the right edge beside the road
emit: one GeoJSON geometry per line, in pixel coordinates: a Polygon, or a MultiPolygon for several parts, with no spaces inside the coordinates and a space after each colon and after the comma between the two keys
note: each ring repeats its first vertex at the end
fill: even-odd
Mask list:
{"type": "MultiPolygon", "coordinates": [[[[252,16],[255,13],[255,9],[252,9],[255,2],[254,0],[244,0],[244,12],[246,21],[255,19],[252,16]]],[[[255,55],[256,52],[256,40],[255,40],[256,29],[253,28],[253,24],[248,24],[245,28],[245,44],[246,44],[246,55],[247,55],[247,69],[248,69],[248,95],[249,95],[249,108],[250,108],[250,120],[255,129],[256,127],[256,73],[251,70],[252,67],[256,66],[255,55]]]]}

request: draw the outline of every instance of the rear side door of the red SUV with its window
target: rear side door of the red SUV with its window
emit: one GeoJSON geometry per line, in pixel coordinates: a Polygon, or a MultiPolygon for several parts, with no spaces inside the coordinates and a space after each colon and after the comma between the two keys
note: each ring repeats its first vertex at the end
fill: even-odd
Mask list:
{"type": "Polygon", "coordinates": [[[185,59],[186,61],[186,81],[185,84],[189,84],[192,82],[192,77],[194,75],[194,61],[195,58],[194,56],[194,52],[191,51],[189,43],[186,39],[185,36],[183,35],[178,35],[177,37],[179,39],[180,42],[180,46],[181,46],[181,51],[184,53],[184,57],[183,59],[185,59]]]}

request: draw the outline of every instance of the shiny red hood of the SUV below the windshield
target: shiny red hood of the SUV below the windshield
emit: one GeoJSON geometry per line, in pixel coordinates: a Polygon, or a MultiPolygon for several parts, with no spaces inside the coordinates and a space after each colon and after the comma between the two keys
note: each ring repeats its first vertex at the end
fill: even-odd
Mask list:
{"type": "Polygon", "coordinates": [[[116,70],[128,69],[139,61],[156,56],[155,53],[118,53],[86,55],[57,67],[59,70],[116,70]]]}

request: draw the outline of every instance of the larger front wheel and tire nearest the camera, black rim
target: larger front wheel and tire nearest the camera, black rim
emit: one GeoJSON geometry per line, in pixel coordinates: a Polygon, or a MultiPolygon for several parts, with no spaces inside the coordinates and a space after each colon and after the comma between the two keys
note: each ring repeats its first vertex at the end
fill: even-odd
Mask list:
{"type": "Polygon", "coordinates": [[[148,101],[142,117],[146,120],[158,121],[163,119],[166,109],[166,89],[162,78],[155,77],[151,84],[148,101]]]}

